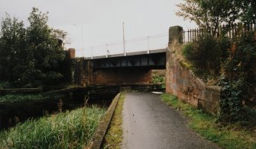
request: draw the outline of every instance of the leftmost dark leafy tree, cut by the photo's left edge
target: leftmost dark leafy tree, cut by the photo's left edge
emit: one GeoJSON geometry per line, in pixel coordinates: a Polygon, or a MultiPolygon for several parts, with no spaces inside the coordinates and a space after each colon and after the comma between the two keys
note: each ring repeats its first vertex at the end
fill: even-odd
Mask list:
{"type": "Polygon", "coordinates": [[[27,45],[26,40],[24,40],[26,39],[26,31],[22,21],[19,22],[16,17],[11,19],[8,14],[6,14],[1,26],[0,71],[3,79],[15,81],[18,80],[15,67],[22,63],[22,55],[26,55],[26,53],[21,52],[21,49],[27,45]]]}

